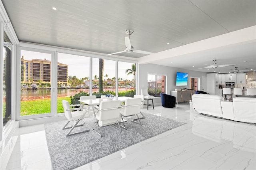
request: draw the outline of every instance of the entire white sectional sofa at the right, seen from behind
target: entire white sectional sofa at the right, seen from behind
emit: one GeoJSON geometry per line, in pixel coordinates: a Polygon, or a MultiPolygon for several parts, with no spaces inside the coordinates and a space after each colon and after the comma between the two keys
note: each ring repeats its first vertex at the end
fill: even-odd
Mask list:
{"type": "Polygon", "coordinates": [[[256,98],[236,97],[226,102],[222,96],[194,94],[193,108],[198,113],[234,121],[256,123],[256,98]]]}

